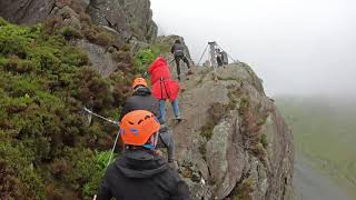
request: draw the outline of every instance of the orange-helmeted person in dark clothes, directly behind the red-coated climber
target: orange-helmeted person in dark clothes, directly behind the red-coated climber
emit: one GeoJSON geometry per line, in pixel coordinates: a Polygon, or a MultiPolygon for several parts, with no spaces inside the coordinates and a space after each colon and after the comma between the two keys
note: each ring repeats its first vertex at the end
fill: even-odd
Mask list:
{"type": "MultiPolygon", "coordinates": [[[[132,82],[132,97],[126,100],[123,109],[121,111],[120,120],[127,113],[134,110],[147,110],[152,112],[158,119],[160,118],[159,102],[156,98],[151,96],[151,91],[147,87],[147,82],[144,78],[136,78],[132,82]]],[[[172,163],[175,161],[175,142],[174,133],[167,127],[161,127],[159,129],[159,141],[158,148],[167,148],[168,162],[172,163]]],[[[172,166],[175,166],[172,163],[172,166]]]]}

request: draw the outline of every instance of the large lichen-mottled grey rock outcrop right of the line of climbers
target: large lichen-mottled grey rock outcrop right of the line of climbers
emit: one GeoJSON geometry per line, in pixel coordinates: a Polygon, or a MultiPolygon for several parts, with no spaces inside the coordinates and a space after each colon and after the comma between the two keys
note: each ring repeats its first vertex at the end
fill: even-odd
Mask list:
{"type": "Polygon", "coordinates": [[[293,199],[293,136],[244,63],[184,81],[175,130],[179,171],[195,199],[293,199]]]}

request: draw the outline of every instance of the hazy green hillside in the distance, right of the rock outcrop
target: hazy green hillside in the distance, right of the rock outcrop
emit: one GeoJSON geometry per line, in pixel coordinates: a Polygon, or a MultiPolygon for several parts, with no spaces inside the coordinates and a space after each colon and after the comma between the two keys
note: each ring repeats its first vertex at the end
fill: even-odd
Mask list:
{"type": "Polygon", "coordinates": [[[356,101],[277,98],[291,126],[296,149],[348,190],[356,188],[356,101]]]}

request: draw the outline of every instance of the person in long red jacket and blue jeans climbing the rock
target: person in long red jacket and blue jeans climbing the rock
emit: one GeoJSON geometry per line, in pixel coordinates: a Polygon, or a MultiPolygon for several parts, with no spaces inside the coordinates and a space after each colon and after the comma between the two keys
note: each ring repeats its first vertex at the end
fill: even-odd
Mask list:
{"type": "Polygon", "coordinates": [[[148,68],[152,83],[152,96],[159,100],[159,112],[161,123],[166,122],[166,100],[171,102],[176,120],[181,121],[178,107],[179,84],[170,77],[166,59],[158,57],[148,68]]]}

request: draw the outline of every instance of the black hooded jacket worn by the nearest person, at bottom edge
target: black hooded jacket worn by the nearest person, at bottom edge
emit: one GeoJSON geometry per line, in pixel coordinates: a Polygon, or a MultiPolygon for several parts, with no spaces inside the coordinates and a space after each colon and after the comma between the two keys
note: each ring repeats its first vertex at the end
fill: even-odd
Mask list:
{"type": "Polygon", "coordinates": [[[98,200],[189,200],[189,189],[162,157],[129,150],[105,174],[98,200]]]}

